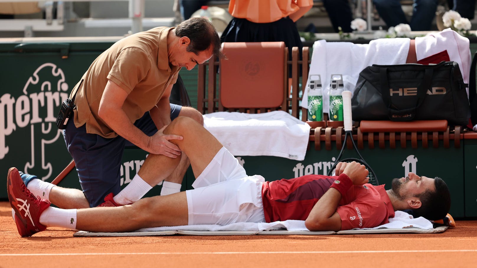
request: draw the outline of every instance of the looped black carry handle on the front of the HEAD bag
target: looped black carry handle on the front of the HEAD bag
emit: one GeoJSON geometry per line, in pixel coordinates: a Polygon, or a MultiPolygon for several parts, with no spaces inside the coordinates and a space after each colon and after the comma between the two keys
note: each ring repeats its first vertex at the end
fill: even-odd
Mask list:
{"type": "MultiPolygon", "coordinates": [[[[435,65],[433,66],[435,67],[435,65]]],[[[384,104],[388,108],[388,116],[393,121],[408,121],[414,119],[415,110],[421,106],[425,99],[425,91],[431,87],[432,75],[434,74],[434,68],[426,68],[424,73],[424,79],[421,84],[417,86],[417,101],[414,107],[408,109],[397,110],[392,107],[391,95],[389,94],[389,81],[387,77],[387,68],[379,68],[380,82],[381,82],[381,95],[383,97],[384,104]]]]}

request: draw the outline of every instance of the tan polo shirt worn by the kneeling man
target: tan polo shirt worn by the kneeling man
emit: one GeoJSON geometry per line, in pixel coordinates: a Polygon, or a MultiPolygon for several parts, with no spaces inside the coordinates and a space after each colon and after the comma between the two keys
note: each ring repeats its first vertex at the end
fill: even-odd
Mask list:
{"type": "MultiPolygon", "coordinates": [[[[131,123],[151,110],[166,88],[177,80],[180,67],[169,66],[167,34],[174,28],[157,27],[114,43],[84,73],[74,103],[74,124],[105,138],[117,134],[98,116],[99,103],[110,79],[128,93],[123,110],[131,123]]],[[[72,96],[70,96],[72,97],[72,96]]]]}

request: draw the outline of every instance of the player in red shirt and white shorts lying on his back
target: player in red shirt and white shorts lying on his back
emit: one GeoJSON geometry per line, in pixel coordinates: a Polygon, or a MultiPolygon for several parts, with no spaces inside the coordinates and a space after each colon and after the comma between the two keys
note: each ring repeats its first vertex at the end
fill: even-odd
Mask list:
{"type": "MultiPolygon", "coordinates": [[[[450,207],[449,190],[438,177],[409,173],[394,179],[386,191],[384,185],[367,184],[368,170],[352,162],[338,165],[337,176],[305,175],[265,182],[260,175],[248,176],[237,159],[193,119],[178,117],[164,133],[183,136],[183,140],[172,142],[189,156],[197,178],[195,189],[143,198],[125,206],[60,209],[31,194],[12,167],[7,178],[8,197],[20,235],[31,236],[46,227],[128,232],[144,227],[288,219],[305,220],[311,231],[338,231],[382,225],[395,210],[403,209],[414,209],[415,214],[431,220],[442,219],[450,207]]],[[[164,155],[148,157],[145,161],[150,163],[140,169],[141,177],[151,181],[169,174],[179,160],[164,155]]]]}

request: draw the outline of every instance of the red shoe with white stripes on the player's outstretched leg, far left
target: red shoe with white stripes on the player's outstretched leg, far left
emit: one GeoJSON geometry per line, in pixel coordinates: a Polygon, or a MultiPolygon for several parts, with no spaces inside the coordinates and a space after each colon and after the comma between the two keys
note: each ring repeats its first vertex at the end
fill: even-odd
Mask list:
{"type": "Polygon", "coordinates": [[[10,206],[15,211],[18,233],[22,237],[31,237],[46,229],[46,226],[40,224],[40,215],[50,206],[50,202],[31,194],[15,167],[8,170],[7,192],[10,206]]]}

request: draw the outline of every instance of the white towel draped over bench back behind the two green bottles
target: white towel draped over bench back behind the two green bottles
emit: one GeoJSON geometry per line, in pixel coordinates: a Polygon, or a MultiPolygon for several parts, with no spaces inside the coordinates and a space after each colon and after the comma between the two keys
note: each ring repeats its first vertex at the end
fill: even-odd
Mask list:
{"type": "MultiPolygon", "coordinates": [[[[342,74],[344,89],[354,91],[359,73],[373,64],[404,64],[409,51],[409,38],[384,38],[369,44],[316,41],[313,44],[309,74],[320,74],[323,86],[323,112],[329,111],[332,74],[342,74]]],[[[309,80],[308,80],[309,81],[309,80]]],[[[304,89],[308,88],[307,85],[304,89]]],[[[308,93],[303,92],[301,107],[308,108],[308,93]]]]}

